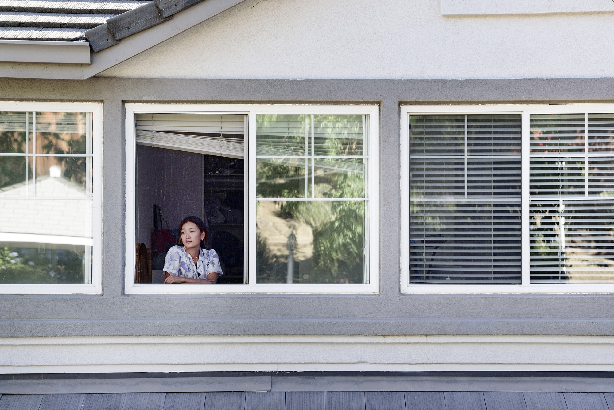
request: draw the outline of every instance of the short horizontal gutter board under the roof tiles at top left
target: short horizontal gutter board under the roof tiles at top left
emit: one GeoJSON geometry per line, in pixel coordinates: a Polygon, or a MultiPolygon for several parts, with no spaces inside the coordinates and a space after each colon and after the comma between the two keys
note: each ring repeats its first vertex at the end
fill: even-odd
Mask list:
{"type": "Polygon", "coordinates": [[[11,63],[90,64],[90,43],[0,40],[0,61],[11,63]]]}

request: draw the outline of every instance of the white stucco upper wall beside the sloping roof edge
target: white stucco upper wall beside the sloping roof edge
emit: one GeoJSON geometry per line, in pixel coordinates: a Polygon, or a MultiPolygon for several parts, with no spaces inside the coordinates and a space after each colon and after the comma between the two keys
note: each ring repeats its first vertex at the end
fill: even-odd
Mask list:
{"type": "Polygon", "coordinates": [[[440,0],[246,0],[101,76],[612,77],[612,27],[612,12],[444,17],[440,0]]]}

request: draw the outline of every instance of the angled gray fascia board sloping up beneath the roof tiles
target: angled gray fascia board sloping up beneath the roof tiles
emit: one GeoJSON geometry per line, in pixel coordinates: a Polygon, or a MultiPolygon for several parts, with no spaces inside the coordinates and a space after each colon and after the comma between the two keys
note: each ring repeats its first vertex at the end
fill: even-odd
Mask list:
{"type": "MultiPolygon", "coordinates": [[[[0,77],[82,80],[128,60],[176,36],[198,23],[220,14],[244,0],[207,0],[173,15],[171,20],[126,37],[119,44],[91,53],[91,64],[2,63],[0,77]]],[[[4,60],[6,61],[6,60],[4,60]]]]}

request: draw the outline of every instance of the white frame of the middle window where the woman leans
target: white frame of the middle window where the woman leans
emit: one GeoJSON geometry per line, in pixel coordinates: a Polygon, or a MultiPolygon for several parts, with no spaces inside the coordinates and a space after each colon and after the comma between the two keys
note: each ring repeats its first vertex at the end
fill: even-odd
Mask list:
{"type": "Polygon", "coordinates": [[[126,266],[125,292],[128,293],[379,293],[379,106],[317,104],[126,104],[126,266]],[[193,113],[245,114],[247,170],[247,283],[216,285],[134,284],[134,246],[136,239],[136,161],[135,114],[193,113]],[[368,284],[257,284],[256,283],[256,115],[257,114],[368,114],[368,284]]]}

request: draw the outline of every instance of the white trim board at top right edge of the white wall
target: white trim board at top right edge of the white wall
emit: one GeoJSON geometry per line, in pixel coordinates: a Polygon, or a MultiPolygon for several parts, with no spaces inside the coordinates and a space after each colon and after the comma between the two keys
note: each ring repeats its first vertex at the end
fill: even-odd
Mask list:
{"type": "Polygon", "coordinates": [[[614,12],[610,0],[441,0],[441,15],[582,14],[614,12]]]}

